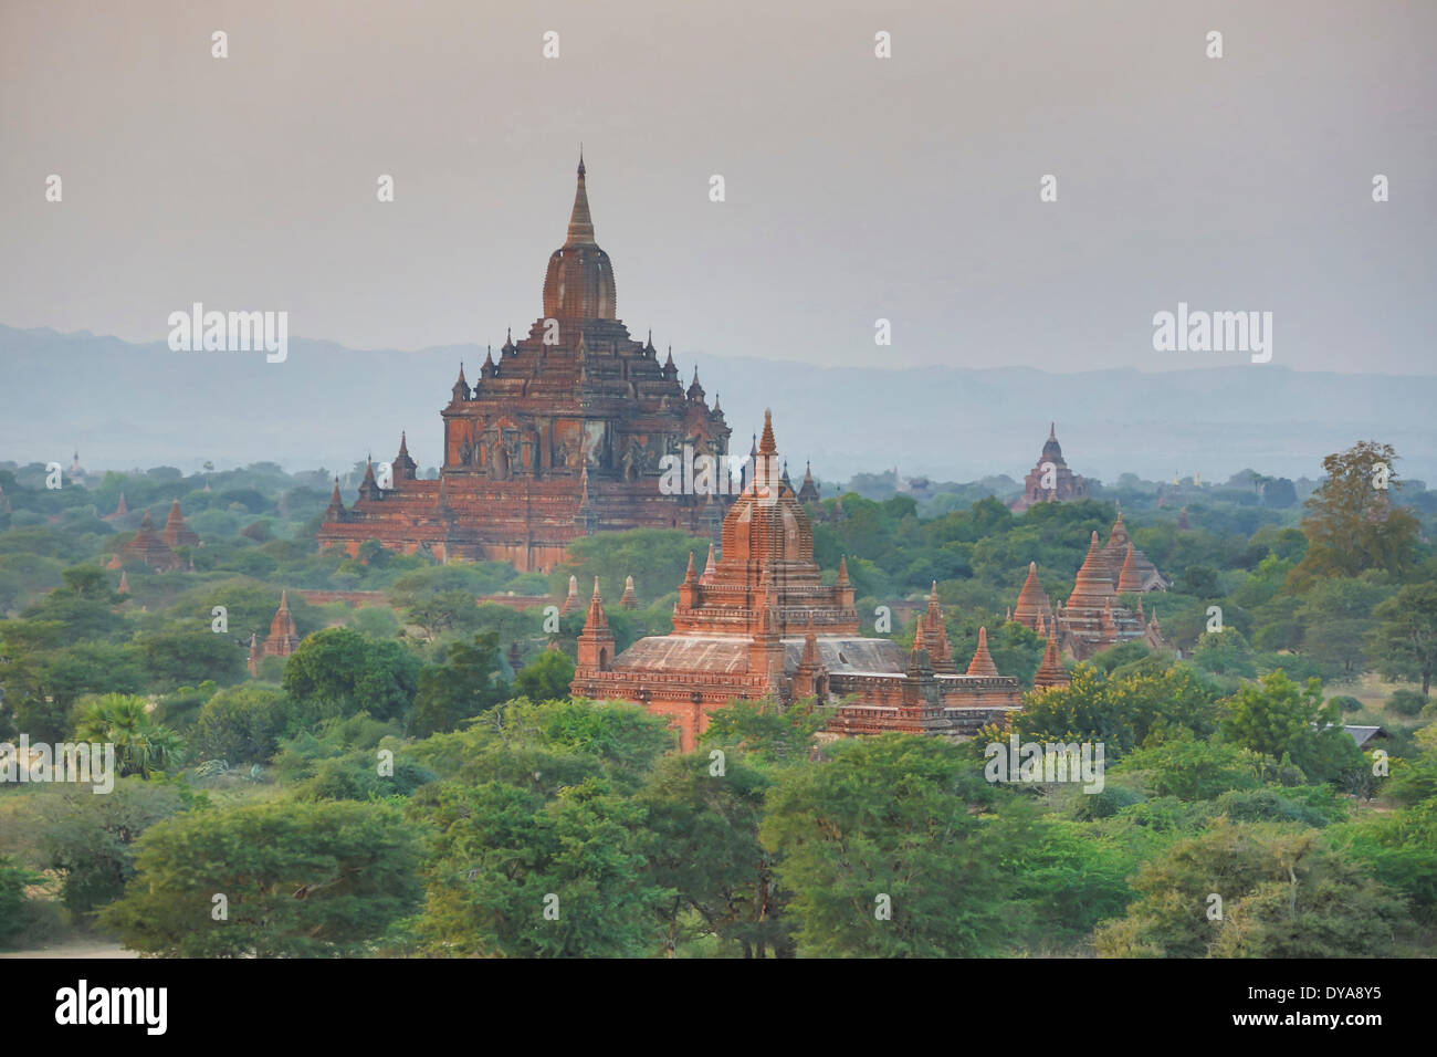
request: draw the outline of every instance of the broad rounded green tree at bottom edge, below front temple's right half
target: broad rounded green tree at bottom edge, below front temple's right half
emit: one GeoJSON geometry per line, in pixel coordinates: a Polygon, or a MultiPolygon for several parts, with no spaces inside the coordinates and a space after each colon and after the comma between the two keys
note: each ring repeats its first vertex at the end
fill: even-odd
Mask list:
{"type": "Polygon", "coordinates": [[[800,949],[821,958],[954,958],[999,948],[1010,879],[966,792],[981,768],[934,739],[836,742],[783,768],[759,837],[793,893],[800,949]]]}

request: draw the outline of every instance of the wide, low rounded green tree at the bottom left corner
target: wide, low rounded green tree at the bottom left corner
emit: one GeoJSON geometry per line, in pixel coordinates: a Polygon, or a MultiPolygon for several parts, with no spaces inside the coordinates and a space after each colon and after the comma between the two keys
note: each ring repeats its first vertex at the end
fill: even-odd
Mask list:
{"type": "Polygon", "coordinates": [[[362,955],[420,902],[418,836],[388,804],[185,813],[152,825],[138,848],[135,877],[101,923],[144,953],[362,955]]]}

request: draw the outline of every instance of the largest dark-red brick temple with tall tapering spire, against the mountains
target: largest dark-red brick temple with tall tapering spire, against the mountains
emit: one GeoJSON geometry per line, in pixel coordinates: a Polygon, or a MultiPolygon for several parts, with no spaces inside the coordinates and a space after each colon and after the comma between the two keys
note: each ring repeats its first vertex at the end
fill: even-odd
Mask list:
{"type": "Polygon", "coordinates": [[[579,160],[563,246],[549,257],[543,315],[490,349],[473,387],[460,365],[444,421],[438,480],[415,476],[401,436],[389,479],[371,463],[349,509],[338,480],[322,548],[366,539],[438,561],[509,561],[552,571],[569,541],[601,531],[675,528],[717,538],[726,496],[665,495],[660,460],[726,456],[730,429],[694,371],[685,390],[673,349],[660,362],[618,318],[614,267],[593,236],[579,160]]]}

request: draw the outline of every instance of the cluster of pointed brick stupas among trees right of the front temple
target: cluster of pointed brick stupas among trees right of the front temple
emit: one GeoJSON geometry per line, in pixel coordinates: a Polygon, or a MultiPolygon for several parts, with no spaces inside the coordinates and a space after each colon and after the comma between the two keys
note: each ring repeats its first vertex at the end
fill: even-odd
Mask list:
{"type": "MultiPolygon", "coordinates": [[[[1106,548],[1098,545],[1098,534],[1094,532],[1088,555],[1083,558],[1082,568],[1078,569],[1072,594],[1068,595],[1066,603],[1058,603],[1056,608],[1038,582],[1036,564],[1029,562],[1027,580],[1017,595],[1013,620],[1046,636],[1049,639],[1048,649],[1055,651],[1055,656],[1058,650],[1062,650],[1076,660],[1088,660],[1111,646],[1127,641],[1141,641],[1151,650],[1168,649],[1167,640],[1163,639],[1163,628],[1158,627],[1157,610],[1152,611],[1151,618],[1145,618],[1141,600],[1138,600],[1135,611],[1118,601],[1119,594],[1141,594],[1150,590],[1144,587],[1144,582],[1150,582],[1150,575],[1144,574],[1138,562],[1140,551],[1127,539],[1122,515],[1118,515],[1118,521],[1112,526],[1109,546],[1114,539],[1124,544],[1124,557],[1117,572],[1112,569],[1112,555],[1106,548]]],[[[1151,572],[1157,575],[1157,569],[1151,572]]],[[[1055,677],[1056,672],[1049,664],[1046,653],[1043,664],[1049,669],[1045,679],[1055,677]]]]}

